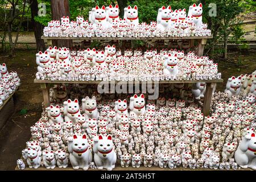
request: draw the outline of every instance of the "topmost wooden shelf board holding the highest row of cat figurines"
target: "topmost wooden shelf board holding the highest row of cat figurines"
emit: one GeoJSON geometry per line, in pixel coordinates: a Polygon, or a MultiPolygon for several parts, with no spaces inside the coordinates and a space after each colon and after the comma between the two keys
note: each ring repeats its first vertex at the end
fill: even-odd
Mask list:
{"type": "Polygon", "coordinates": [[[42,36],[44,40],[187,40],[187,39],[212,39],[213,36],[168,36],[168,37],[154,37],[154,38],[106,38],[106,37],[91,37],[91,38],[77,38],[77,37],[59,37],[59,36],[42,36]]]}

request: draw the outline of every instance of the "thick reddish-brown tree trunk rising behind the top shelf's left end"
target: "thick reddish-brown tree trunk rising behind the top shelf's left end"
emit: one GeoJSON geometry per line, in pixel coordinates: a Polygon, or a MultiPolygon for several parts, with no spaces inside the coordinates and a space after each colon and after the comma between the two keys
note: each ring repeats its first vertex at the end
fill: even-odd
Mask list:
{"type": "MultiPolygon", "coordinates": [[[[63,16],[69,16],[68,0],[51,0],[52,19],[60,20],[63,16]]],[[[72,47],[72,40],[52,40],[52,45],[57,47],[72,47]]]]}

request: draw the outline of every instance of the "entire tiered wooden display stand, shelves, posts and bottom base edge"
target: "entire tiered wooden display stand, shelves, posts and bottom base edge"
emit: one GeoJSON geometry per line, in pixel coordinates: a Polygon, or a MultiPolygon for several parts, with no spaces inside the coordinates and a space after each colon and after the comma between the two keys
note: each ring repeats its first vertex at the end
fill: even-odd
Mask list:
{"type": "MultiPolygon", "coordinates": [[[[73,40],[73,42],[82,42],[84,40],[144,40],[147,43],[150,43],[151,40],[189,40],[189,45],[190,47],[192,47],[194,45],[194,42],[197,41],[197,55],[198,56],[203,56],[203,52],[204,52],[204,46],[207,43],[207,39],[211,39],[212,36],[188,36],[188,37],[168,37],[168,38],[97,38],[97,37],[93,37],[93,38],[63,38],[63,37],[44,37],[42,36],[42,39],[44,39],[44,42],[47,42],[47,46],[52,46],[52,40],[73,40]]],[[[151,44],[151,43],[150,43],[151,44]]],[[[49,102],[49,85],[50,84],[100,84],[100,82],[102,83],[102,81],[51,81],[51,80],[34,80],[35,83],[40,84],[42,92],[43,92],[43,98],[44,98],[44,106],[48,107],[50,105],[49,102]]],[[[106,81],[105,81],[106,82],[106,81]]],[[[120,81],[109,81],[108,83],[120,83],[120,81]]],[[[124,81],[121,81],[124,82],[124,81]]],[[[204,97],[204,107],[203,107],[203,113],[204,115],[209,115],[209,110],[210,110],[210,102],[212,100],[212,90],[214,88],[214,86],[216,86],[216,84],[218,82],[223,82],[222,79],[220,80],[174,80],[174,81],[158,81],[159,84],[191,84],[191,83],[196,83],[196,82],[205,82],[207,84],[206,86],[206,90],[205,90],[205,97],[204,97]]],[[[127,83],[127,82],[126,82],[127,83]]],[[[130,83],[130,82],[129,82],[130,83]]],[[[139,84],[142,82],[139,81],[133,81],[134,84],[139,84]]],[[[143,82],[145,83],[145,82],[143,82]]],[[[154,81],[151,81],[152,84],[154,84],[154,81]]],[[[26,163],[26,161],[24,161],[26,163]]],[[[30,169],[28,168],[28,166],[26,165],[26,169],[27,170],[35,170],[35,169],[30,169]]],[[[15,169],[18,169],[17,167],[15,169]]],[[[141,165],[140,168],[122,168],[119,164],[119,160],[117,161],[116,167],[114,168],[114,170],[134,170],[136,169],[137,171],[145,171],[145,170],[163,170],[160,167],[155,167],[152,166],[151,168],[148,167],[144,167],[143,164],[141,165]]],[[[47,170],[45,167],[39,167],[36,170],[47,170]]],[[[63,168],[58,168],[56,166],[56,168],[54,170],[73,170],[73,168],[71,167],[71,165],[69,164],[69,166],[65,169],[63,168]]],[[[79,169],[81,170],[81,169],[79,169]]],[[[89,169],[92,170],[92,169],[89,169]]],[[[182,167],[177,167],[174,169],[170,169],[170,168],[164,168],[164,170],[182,170],[182,171],[187,171],[190,170],[189,168],[182,168],[182,167]]],[[[210,170],[210,169],[203,169],[203,170],[210,170]]]]}

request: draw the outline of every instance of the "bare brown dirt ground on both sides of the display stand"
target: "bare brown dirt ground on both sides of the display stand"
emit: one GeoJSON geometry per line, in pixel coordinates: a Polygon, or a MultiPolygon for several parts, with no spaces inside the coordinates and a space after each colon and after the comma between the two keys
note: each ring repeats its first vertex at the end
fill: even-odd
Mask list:
{"type": "MultiPolygon", "coordinates": [[[[238,68],[238,52],[230,52],[228,61],[216,60],[224,78],[223,84],[218,84],[217,90],[224,90],[226,80],[230,76],[251,73],[256,69],[256,51],[241,52],[243,67],[238,68]],[[232,63],[233,62],[233,63],[232,63]]],[[[35,50],[19,50],[13,59],[0,54],[0,64],[7,63],[9,71],[17,71],[22,81],[12,117],[0,130],[0,170],[14,170],[16,160],[30,139],[30,126],[40,118],[42,113],[43,96],[38,84],[33,80],[36,73],[35,50]],[[19,114],[27,109],[25,115],[19,114]]],[[[1,116],[0,116],[1,117],[1,116]]]]}

